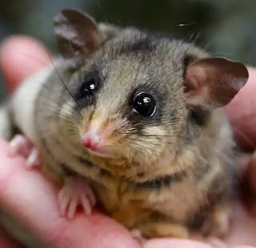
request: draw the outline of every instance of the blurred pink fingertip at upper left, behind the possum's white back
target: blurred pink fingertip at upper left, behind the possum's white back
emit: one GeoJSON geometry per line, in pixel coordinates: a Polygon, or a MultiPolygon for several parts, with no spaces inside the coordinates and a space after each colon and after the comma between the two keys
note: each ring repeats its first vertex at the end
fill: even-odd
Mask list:
{"type": "Polygon", "coordinates": [[[25,77],[49,63],[46,48],[32,37],[14,35],[2,42],[0,68],[10,93],[25,77]]]}

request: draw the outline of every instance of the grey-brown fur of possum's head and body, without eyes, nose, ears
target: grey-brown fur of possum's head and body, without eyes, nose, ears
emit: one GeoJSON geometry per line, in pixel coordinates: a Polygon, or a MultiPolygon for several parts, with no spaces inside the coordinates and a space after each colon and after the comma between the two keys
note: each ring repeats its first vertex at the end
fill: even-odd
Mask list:
{"type": "Polygon", "coordinates": [[[82,63],[56,63],[34,103],[35,145],[62,179],[67,168],[90,179],[106,212],[129,228],[149,237],[186,237],[194,227],[223,234],[214,216],[226,211],[233,191],[232,133],[222,108],[190,104],[184,83],[187,67],[210,55],[134,28],[112,34],[82,63]],[[78,100],[88,77],[97,77],[99,89],[78,100]],[[133,112],[138,92],[154,96],[154,116],[133,112]],[[94,119],[115,127],[107,158],[82,145],[81,132],[94,119]]]}

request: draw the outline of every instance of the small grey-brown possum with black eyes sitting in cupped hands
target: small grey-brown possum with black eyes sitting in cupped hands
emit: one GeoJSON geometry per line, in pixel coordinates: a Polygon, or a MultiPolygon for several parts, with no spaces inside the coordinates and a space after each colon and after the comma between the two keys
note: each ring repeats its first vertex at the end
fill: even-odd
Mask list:
{"type": "Polygon", "coordinates": [[[98,27],[78,10],[58,14],[55,32],[64,60],[10,103],[52,173],[89,179],[106,213],[146,237],[225,234],[235,167],[221,107],[246,67],[174,38],[98,27]]]}

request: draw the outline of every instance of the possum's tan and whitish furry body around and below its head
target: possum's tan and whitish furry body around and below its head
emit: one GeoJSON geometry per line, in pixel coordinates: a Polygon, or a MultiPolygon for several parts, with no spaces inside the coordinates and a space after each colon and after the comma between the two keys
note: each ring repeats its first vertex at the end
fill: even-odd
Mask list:
{"type": "MultiPolygon", "coordinates": [[[[166,175],[166,179],[162,179],[162,182],[150,179],[142,183],[130,183],[129,180],[118,175],[111,178],[103,175],[104,170],[101,167],[88,169],[84,161],[100,164],[104,163],[103,160],[91,156],[83,151],[82,147],[64,144],[67,137],[56,129],[55,125],[58,125],[56,110],[58,108],[57,112],[60,113],[66,109],[56,104],[56,99],[61,100],[61,97],[66,96],[65,87],[59,75],[65,75],[65,80],[69,81],[70,73],[62,63],[54,61],[54,64],[56,65],[51,65],[48,69],[24,81],[10,104],[14,124],[42,151],[50,170],[62,176],[64,172],[60,164],[66,164],[67,167],[70,165],[70,169],[74,168],[74,172],[78,175],[92,179],[94,191],[109,215],[130,228],[143,230],[143,219],[148,216],[152,219],[170,218],[178,225],[198,228],[206,218],[212,222],[208,215],[210,212],[214,213],[214,209],[216,211],[220,209],[220,212],[226,211],[230,203],[230,193],[227,191],[232,191],[230,178],[234,173],[234,158],[231,150],[232,132],[222,109],[215,110],[211,114],[207,120],[208,124],[200,134],[196,135],[197,138],[186,141],[187,144],[184,144],[186,148],[182,149],[178,155],[174,167],[168,166],[166,155],[162,156],[158,161],[161,169],[159,167],[158,171],[152,172],[166,175]],[[62,145],[56,144],[57,137],[62,145]],[[82,155],[84,160],[78,161],[74,159],[74,155],[82,155]],[[210,164],[214,164],[211,169],[210,164]],[[186,167],[186,171],[182,167],[186,167]],[[169,178],[169,174],[174,178],[169,178]],[[223,192],[226,193],[223,194],[223,192]],[[134,201],[140,204],[134,204],[134,201]],[[224,202],[226,205],[223,205],[224,202]],[[222,207],[224,207],[223,210],[222,207]]],[[[71,87],[71,85],[67,86],[71,87]]],[[[193,128],[190,131],[194,132],[193,128]]],[[[126,174],[125,171],[123,173],[126,174]]],[[[150,175],[147,176],[150,177],[150,175]]],[[[161,222],[159,232],[168,232],[169,229],[176,228],[175,225],[169,227],[165,222],[166,220],[164,223],[161,222]]],[[[155,230],[153,232],[145,230],[145,233],[159,235],[155,230]]],[[[186,235],[186,232],[178,227],[177,233],[174,230],[174,234],[182,236],[186,235]]]]}

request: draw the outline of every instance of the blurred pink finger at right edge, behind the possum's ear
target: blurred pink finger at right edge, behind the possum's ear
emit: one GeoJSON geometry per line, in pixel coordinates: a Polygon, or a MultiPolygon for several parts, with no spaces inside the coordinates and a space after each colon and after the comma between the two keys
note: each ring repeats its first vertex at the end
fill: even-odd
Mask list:
{"type": "Polygon", "coordinates": [[[243,148],[256,148],[256,69],[249,68],[249,81],[226,106],[226,113],[238,143],[243,148]]]}

